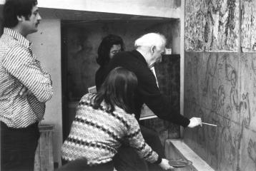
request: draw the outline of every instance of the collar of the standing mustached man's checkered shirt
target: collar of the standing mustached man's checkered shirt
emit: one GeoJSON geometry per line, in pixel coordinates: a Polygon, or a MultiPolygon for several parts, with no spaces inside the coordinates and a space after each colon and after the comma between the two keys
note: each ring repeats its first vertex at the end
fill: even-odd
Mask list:
{"type": "Polygon", "coordinates": [[[24,36],[21,35],[18,31],[14,31],[14,29],[11,28],[4,28],[4,33],[8,34],[9,36],[16,39],[16,41],[19,41],[22,46],[25,46],[26,48],[29,48],[31,46],[31,41],[26,39],[24,36]]]}

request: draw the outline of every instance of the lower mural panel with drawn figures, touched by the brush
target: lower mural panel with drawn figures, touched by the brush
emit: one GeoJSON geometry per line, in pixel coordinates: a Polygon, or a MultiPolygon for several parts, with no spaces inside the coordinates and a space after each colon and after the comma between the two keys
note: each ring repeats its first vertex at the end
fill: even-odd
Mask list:
{"type": "Polygon", "coordinates": [[[184,141],[215,170],[256,170],[256,53],[185,53],[184,141]]]}

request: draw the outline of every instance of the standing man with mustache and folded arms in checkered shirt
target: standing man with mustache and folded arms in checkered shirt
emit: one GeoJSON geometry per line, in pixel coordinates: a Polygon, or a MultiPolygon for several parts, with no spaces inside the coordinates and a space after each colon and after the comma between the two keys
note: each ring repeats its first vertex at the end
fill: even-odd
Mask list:
{"type": "Polygon", "coordinates": [[[34,170],[39,122],[53,95],[51,76],[41,68],[26,38],[38,31],[36,0],[7,0],[0,38],[1,170],[34,170]]]}

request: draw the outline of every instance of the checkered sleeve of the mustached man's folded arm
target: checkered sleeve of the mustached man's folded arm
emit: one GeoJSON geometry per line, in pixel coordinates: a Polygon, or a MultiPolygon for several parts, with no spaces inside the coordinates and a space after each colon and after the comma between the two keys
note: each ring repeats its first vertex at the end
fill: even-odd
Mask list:
{"type": "Polygon", "coordinates": [[[3,58],[3,66],[11,76],[26,86],[40,102],[51,99],[51,77],[42,68],[34,54],[23,46],[15,46],[3,58]]]}

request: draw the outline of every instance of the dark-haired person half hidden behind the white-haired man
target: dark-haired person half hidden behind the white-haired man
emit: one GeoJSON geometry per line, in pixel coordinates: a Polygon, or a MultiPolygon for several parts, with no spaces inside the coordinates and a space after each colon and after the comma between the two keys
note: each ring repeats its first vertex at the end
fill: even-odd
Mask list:
{"type": "Polygon", "coordinates": [[[98,48],[98,57],[96,59],[99,64],[99,69],[95,75],[95,84],[97,90],[102,85],[104,81],[104,74],[107,68],[109,60],[119,51],[124,51],[124,41],[120,36],[109,34],[108,36],[102,39],[102,42],[99,44],[98,48]]]}

